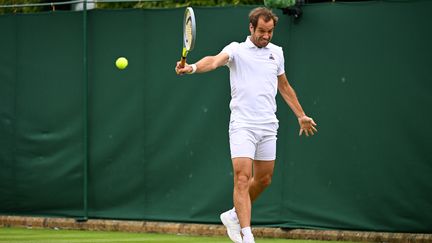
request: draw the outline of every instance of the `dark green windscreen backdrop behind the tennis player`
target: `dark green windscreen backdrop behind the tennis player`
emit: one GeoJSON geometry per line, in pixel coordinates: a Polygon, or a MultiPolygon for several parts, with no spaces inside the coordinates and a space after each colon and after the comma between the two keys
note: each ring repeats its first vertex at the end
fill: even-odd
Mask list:
{"type": "MultiPolygon", "coordinates": [[[[190,61],[243,41],[250,9],[195,8],[190,61]]],[[[276,10],[273,42],[319,133],[299,138],[278,97],[253,223],[432,232],[432,2],[303,9],[276,10]]],[[[228,70],[176,76],[183,10],[92,10],[86,43],[80,12],[0,16],[0,214],[83,216],[88,157],[90,218],[218,222],[232,206],[228,70]]]]}

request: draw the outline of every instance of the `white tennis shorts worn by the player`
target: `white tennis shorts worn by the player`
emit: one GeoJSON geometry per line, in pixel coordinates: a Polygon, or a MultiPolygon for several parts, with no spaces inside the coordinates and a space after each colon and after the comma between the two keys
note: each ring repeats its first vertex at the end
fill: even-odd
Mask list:
{"type": "Polygon", "coordinates": [[[247,157],[253,160],[275,160],[278,128],[277,122],[267,124],[230,122],[231,158],[247,157]]]}

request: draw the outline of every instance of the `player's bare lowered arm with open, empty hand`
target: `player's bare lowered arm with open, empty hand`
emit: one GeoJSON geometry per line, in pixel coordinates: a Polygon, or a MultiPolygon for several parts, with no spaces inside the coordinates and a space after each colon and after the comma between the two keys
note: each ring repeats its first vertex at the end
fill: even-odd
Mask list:
{"type": "Polygon", "coordinates": [[[297,99],[297,95],[289,84],[285,73],[278,76],[278,90],[285,102],[297,116],[300,125],[299,136],[301,136],[303,132],[306,134],[306,136],[309,136],[309,134],[314,135],[314,133],[318,131],[315,128],[316,123],[303,111],[303,108],[297,99]]]}

